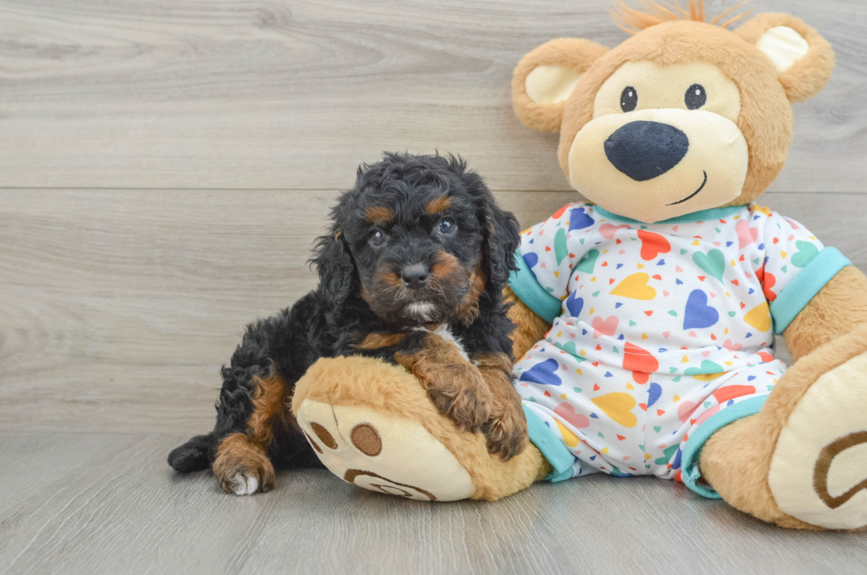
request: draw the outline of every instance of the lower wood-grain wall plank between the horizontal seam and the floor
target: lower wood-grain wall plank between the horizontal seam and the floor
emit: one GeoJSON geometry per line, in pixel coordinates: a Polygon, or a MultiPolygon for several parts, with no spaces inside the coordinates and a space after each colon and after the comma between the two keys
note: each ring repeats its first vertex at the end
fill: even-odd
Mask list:
{"type": "MultiPolygon", "coordinates": [[[[243,326],[315,287],[307,259],[334,196],[0,191],[0,431],[210,430],[243,326]]],[[[496,196],[522,226],[578,197],[496,196]]],[[[867,269],[867,196],[763,201],[867,269]]]]}

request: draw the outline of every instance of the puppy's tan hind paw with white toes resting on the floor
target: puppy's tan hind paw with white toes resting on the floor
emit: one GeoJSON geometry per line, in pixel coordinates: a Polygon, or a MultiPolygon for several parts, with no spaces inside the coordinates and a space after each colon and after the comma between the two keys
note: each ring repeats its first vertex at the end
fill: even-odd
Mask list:
{"type": "Polygon", "coordinates": [[[243,433],[233,433],[220,442],[213,471],[219,487],[228,494],[253,495],[274,486],[271,461],[243,433]]]}

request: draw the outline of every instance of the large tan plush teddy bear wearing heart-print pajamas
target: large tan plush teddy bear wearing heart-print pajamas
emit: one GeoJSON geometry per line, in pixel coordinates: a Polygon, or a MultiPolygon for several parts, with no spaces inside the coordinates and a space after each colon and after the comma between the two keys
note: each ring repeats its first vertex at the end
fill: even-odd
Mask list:
{"type": "Polygon", "coordinates": [[[503,462],[402,368],[328,358],[292,403],[328,469],[440,501],[653,474],[777,525],[867,524],[867,278],[755,203],[833,52],[787,14],[703,12],[622,6],[616,48],[553,40],[515,70],[518,118],[560,133],[589,200],[522,234],[506,290],[531,445],[503,462]]]}

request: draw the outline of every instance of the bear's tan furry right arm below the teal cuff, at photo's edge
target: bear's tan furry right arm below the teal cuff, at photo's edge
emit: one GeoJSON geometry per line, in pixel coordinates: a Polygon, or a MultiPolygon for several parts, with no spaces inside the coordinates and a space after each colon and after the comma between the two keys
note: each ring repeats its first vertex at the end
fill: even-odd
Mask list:
{"type": "Polygon", "coordinates": [[[867,277],[848,265],[813,296],[783,331],[786,349],[797,361],[863,323],[867,323],[867,277]]]}

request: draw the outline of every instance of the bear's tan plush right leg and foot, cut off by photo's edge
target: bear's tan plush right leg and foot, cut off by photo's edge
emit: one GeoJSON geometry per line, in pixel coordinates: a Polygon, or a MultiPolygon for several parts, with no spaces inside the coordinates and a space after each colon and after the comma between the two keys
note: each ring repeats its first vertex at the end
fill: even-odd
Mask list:
{"type": "Polygon", "coordinates": [[[802,357],[762,410],[710,436],[702,478],[783,527],[867,526],[867,326],[802,357]]]}

